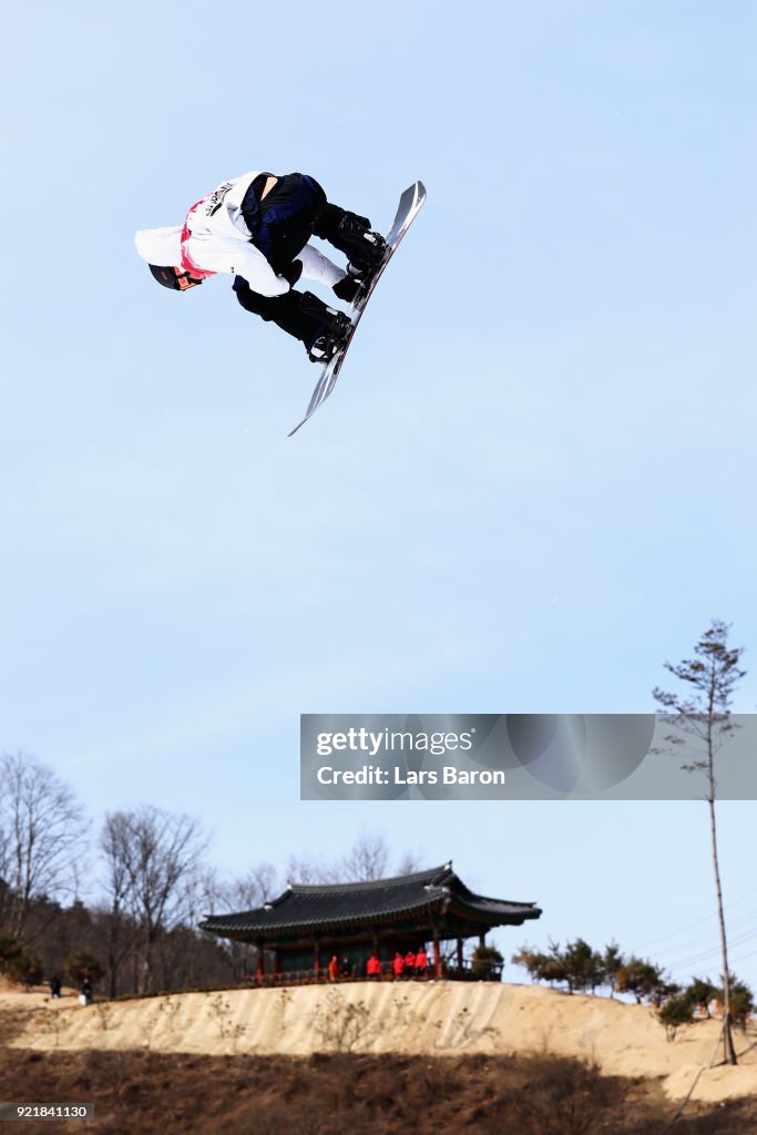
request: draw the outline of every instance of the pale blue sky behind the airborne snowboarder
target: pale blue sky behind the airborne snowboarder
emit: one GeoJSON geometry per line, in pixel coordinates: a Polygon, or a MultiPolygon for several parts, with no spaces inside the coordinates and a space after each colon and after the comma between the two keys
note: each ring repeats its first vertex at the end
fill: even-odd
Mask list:
{"type": "MultiPolygon", "coordinates": [[[[16,8],[0,748],[95,821],[199,816],[225,869],[380,829],[538,900],[532,941],[662,938],[684,976],[712,943],[691,967],[714,974],[701,804],[301,804],[298,714],[649,712],[712,617],[755,649],[756,25],[688,2],[16,8]],[[133,247],[249,168],[309,171],[384,229],[429,191],[291,440],[302,348],[224,279],[160,291],[133,247]]],[[[721,809],[755,984],[756,808],[721,809]]]]}

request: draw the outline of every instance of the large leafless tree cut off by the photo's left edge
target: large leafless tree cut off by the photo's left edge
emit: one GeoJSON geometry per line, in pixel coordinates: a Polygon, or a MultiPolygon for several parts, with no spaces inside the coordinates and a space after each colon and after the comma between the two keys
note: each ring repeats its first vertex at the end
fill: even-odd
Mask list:
{"type": "Polygon", "coordinates": [[[86,830],[51,768],[24,753],[0,758],[0,924],[19,939],[36,899],[74,893],[86,830]]]}

